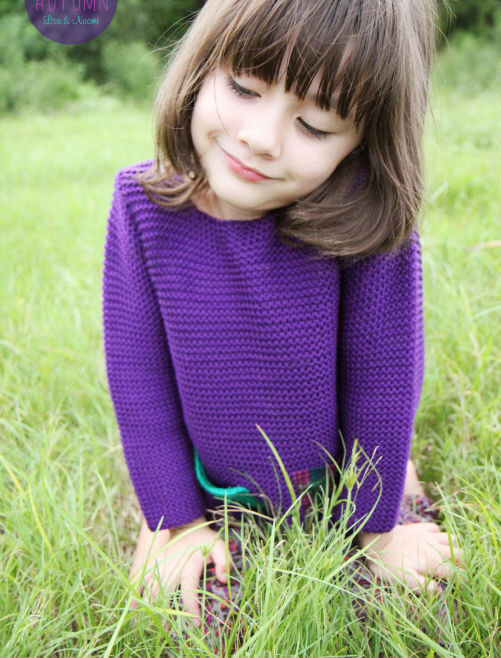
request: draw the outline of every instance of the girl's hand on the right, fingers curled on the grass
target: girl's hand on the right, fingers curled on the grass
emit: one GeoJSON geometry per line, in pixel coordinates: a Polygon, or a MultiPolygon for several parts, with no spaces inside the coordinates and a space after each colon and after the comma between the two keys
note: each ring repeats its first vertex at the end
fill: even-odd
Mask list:
{"type": "Polygon", "coordinates": [[[361,546],[376,541],[368,549],[369,569],[381,580],[404,580],[409,587],[439,591],[440,586],[432,578],[447,578],[453,559],[460,564],[463,558],[454,535],[442,532],[436,523],[410,523],[397,525],[382,534],[359,535],[361,546]],[[371,554],[374,560],[370,559],[371,554]],[[428,581],[428,582],[427,582],[428,581]]]}

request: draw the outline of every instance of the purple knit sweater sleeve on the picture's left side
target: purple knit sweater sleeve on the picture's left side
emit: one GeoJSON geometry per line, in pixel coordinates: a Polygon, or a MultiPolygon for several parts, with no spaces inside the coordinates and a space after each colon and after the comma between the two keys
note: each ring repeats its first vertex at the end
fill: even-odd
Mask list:
{"type": "Polygon", "coordinates": [[[150,530],[205,512],[157,293],[119,172],[103,268],[106,372],[130,477],[150,530]]]}

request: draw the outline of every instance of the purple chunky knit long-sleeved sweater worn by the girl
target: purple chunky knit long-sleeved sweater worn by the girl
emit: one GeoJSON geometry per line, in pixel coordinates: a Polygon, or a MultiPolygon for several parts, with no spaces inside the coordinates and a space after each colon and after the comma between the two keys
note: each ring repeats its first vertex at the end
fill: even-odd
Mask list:
{"type": "MultiPolygon", "coordinates": [[[[220,487],[291,502],[259,425],[292,476],[354,438],[379,459],[353,520],[396,523],[423,377],[416,233],[391,255],[340,268],[285,245],[276,215],[221,220],[166,210],[118,172],[103,270],[106,368],[125,459],[150,529],[202,516],[196,449],[220,487]],[[325,450],[324,450],[324,449],[325,450]]],[[[315,257],[317,256],[317,257],[315,257]]],[[[359,478],[362,480],[362,477],[359,478]]]]}

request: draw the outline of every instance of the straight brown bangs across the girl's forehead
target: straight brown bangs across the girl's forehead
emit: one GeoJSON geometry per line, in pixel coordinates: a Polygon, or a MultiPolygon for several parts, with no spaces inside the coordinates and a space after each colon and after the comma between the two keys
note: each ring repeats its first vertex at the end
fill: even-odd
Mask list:
{"type": "MultiPolygon", "coordinates": [[[[267,0],[257,5],[248,3],[227,26],[218,61],[270,85],[285,69],[285,90],[301,100],[320,73],[316,104],[326,110],[335,107],[346,118],[367,78],[357,66],[365,60],[359,57],[361,48],[353,47],[360,22],[358,3],[267,0]]],[[[360,123],[363,117],[357,115],[360,123]]]]}

